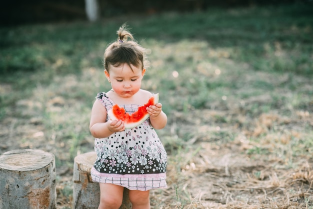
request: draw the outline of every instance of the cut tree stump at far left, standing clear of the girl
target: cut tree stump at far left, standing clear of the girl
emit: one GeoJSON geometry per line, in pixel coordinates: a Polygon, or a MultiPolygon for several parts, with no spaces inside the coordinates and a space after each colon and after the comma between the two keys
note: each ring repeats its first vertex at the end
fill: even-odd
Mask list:
{"type": "Polygon", "coordinates": [[[55,208],[54,155],[17,149],[0,155],[0,208],[55,208]]]}

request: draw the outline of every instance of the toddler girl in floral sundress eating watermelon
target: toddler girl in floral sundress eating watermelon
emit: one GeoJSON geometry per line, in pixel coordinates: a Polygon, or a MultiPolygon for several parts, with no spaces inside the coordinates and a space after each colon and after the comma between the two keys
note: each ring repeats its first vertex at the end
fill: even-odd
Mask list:
{"type": "Polygon", "coordinates": [[[153,95],[140,88],[147,63],[144,48],[125,24],[117,34],[117,41],[104,52],[104,73],[111,89],[97,94],[91,110],[89,128],[97,152],[91,177],[100,185],[98,208],[119,208],[125,187],[132,208],[147,209],[149,189],[166,187],[166,151],[154,128],[163,128],[167,116],[157,103],[146,108],[150,116],[134,128],[125,129],[123,121],[108,117],[114,104],[131,114],[153,95]]]}

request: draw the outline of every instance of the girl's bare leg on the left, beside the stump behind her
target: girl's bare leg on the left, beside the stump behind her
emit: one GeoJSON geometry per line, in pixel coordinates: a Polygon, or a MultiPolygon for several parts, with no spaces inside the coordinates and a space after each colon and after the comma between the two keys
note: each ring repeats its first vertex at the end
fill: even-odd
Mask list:
{"type": "Polygon", "coordinates": [[[99,183],[100,204],[98,209],[118,209],[123,199],[124,187],[110,183],[99,183]]]}

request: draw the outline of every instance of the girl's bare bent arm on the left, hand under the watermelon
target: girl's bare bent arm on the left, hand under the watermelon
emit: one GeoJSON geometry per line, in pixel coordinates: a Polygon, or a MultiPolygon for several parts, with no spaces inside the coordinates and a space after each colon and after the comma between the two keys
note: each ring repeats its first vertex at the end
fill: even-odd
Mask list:
{"type": "Polygon", "coordinates": [[[114,132],[124,130],[124,123],[121,120],[106,121],[106,109],[96,99],[91,110],[89,130],[91,135],[96,138],[105,138],[114,132]]]}

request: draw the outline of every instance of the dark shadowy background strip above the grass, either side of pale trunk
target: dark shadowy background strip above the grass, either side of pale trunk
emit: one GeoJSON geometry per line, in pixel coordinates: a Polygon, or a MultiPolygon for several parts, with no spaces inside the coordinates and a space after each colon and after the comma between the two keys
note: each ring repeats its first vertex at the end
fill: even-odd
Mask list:
{"type": "MultiPolygon", "coordinates": [[[[101,17],[297,2],[312,3],[312,0],[97,0],[101,17]]],[[[0,26],[84,20],[87,19],[85,5],[85,0],[6,0],[1,2],[0,26]]]]}

